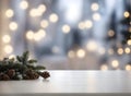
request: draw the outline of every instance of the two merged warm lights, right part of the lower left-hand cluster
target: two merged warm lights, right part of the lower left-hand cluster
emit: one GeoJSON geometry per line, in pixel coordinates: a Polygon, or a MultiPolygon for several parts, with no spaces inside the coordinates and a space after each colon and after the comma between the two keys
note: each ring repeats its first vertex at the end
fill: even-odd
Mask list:
{"type": "Polygon", "coordinates": [[[34,40],[39,41],[46,37],[46,32],[44,29],[39,29],[37,33],[34,34],[34,40]]]}

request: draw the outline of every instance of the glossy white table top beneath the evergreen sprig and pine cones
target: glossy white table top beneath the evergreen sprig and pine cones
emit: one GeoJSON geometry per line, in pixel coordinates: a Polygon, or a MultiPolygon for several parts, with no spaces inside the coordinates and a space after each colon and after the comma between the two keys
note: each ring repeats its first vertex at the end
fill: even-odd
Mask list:
{"type": "Polygon", "coordinates": [[[0,96],[22,96],[24,94],[33,96],[33,94],[131,93],[131,72],[128,71],[49,72],[51,77],[46,81],[41,79],[35,81],[2,81],[0,82],[0,96]]]}

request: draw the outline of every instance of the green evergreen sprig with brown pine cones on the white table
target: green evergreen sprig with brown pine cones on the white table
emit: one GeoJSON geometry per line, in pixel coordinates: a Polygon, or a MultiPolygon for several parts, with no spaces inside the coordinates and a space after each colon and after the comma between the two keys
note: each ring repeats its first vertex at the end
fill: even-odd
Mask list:
{"type": "Polygon", "coordinates": [[[39,76],[47,79],[50,76],[49,72],[40,72],[46,68],[43,65],[35,65],[35,59],[28,59],[29,52],[25,51],[22,56],[9,59],[4,58],[0,61],[0,81],[8,80],[36,80],[39,76]]]}

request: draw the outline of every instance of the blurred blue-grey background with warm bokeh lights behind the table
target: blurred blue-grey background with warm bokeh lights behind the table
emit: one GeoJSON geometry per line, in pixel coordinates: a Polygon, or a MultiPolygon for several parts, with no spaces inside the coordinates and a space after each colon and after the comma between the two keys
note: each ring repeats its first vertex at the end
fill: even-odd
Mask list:
{"type": "Polygon", "coordinates": [[[131,70],[131,0],[0,0],[0,59],[25,50],[49,70],[131,70]]]}

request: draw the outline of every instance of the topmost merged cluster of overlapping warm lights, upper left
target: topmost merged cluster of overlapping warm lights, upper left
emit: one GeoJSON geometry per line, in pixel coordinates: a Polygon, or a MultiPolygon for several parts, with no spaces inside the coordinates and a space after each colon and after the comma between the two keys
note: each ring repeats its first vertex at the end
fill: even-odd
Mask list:
{"type": "Polygon", "coordinates": [[[41,16],[46,12],[46,5],[40,4],[37,9],[32,9],[29,15],[32,17],[41,16]]]}

